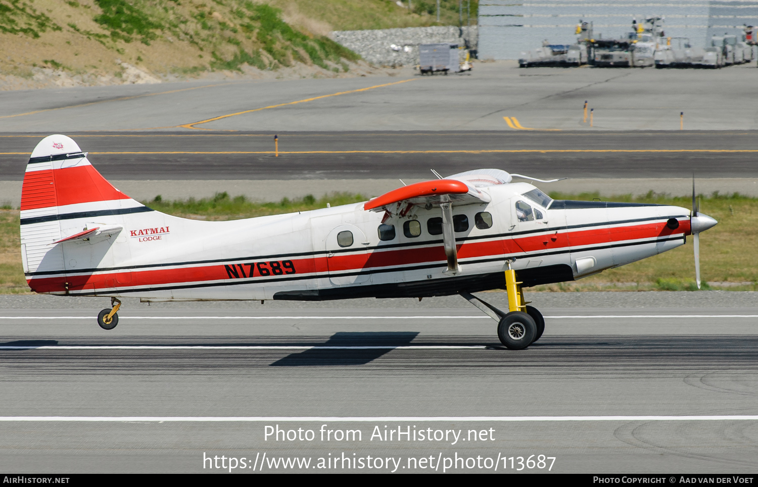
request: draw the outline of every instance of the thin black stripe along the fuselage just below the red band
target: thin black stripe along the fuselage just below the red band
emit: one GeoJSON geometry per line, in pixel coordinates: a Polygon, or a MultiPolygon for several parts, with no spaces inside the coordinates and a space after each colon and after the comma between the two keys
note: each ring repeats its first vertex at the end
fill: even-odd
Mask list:
{"type": "MultiPolygon", "coordinates": [[[[659,242],[672,242],[677,240],[684,240],[684,236],[681,237],[673,237],[669,239],[656,239],[656,240],[647,240],[644,242],[631,242],[631,243],[619,243],[619,244],[608,244],[608,245],[596,245],[594,247],[587,247],[587,248],[579,248],[575,249],[575,251],[593,251],[593,250],[602,250],[607,248],[619,248],[619,247],[632,247],[635,245],[646,245],[646,244],[657,244],[659,242]]],[[[550,251],[550,252],[540,252],[540,253],[534,253],[534,254],[520,254],[519,258],[534,258],[534,257],[543,257],[546,255],[557,255],[557,254],[568,254],[571,252],[570,248],[565,248],[563,250],[557,250],[557,251],[550,251]]],[[[471,260],[465,260],[461,261],[461,264],[485,264],[487,262],[496,262],[496,261],[505,261],[506,258],[511,258],[510,255],[498,255],[496,257],[488,257],[488,258],[479,258],[479,259],[471,259],[471,260]]],[[[219,287],[219,286],[239,286],[243,284],[265,284],[265,283],[281,283],[286,281],[297,281],[297,280],[303,280],[303,279],[318,279],[318,278],[334,278],[334,277],[348,277],[348,276],[362,276],[362,275],[371,275],[371,274],[381,274],[381,273],[390,273],[390,272],[400,272],[404,270],[423,270],[423,269],[434,269],[439,268],[442,261],[430,263],[430,264],[419,264],[415,266],[405,266],[405,267],[387,267],[384,269],[374,269],[374,270],[356,270],[352,272],[346,272],[346,273],[329,273],[329,274],[322,274],[322,275],[314,275],[309,274],[307,276],[283,276],[283,277],[277,277],[277,278],[269,278],[269,279],[232,279],[229,281],[223,281],[221,283],[199,283],[199,284],[174,284],[170,286],[156,286],[156,287],[138,287],[138,288],[117,288],[117,292],[154,292],[154,291],[171,291],[173,289],[199,289],[199,288],[211,288],[211,287],[219,287]]],[[[518,272],[518,271],[517,271],[518,272]]],[[[443,278],[443,279],[449,279],[449,278],[443,278]]],[[[109,295],[113,294],[113,292],[108,292],[105,289],[102,292],[72,292],[71,295],[77,295],[77,296],[88,296],[88,295],[109,295]]]]}

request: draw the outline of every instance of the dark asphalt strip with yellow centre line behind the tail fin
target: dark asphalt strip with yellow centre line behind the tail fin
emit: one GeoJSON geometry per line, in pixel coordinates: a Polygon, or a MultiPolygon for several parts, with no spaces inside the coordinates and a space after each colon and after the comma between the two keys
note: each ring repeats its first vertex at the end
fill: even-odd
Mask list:
{"type": "MultiPolygon", "coordinates": [[[[0,180],[21,180],[49,133],[0,136],[0,180]]],[[[756,177],[756,133],[68,133],[111,180],[419,179],[477,167],[551,177],[756,177]]]]}

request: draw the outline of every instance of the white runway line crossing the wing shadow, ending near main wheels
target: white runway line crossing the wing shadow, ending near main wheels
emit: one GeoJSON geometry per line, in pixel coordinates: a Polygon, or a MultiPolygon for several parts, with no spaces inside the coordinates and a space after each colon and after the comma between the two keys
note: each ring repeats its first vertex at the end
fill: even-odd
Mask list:
{"type": "Polygon", "coordinates": [[[487,345],[0,345],[0,350],[460,350],[487,345]]]}

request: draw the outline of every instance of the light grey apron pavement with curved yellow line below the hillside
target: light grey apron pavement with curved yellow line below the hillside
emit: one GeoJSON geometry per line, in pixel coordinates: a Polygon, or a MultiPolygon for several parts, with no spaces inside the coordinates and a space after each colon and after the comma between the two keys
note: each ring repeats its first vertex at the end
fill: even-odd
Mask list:
{"type": "MultiPolygon", "coordinates": [[[[754,130],[755,64],[722,70],[528,68],[0,93],[0,132],[83,130],[754,130]],[[592,111],[584,120],[584,101],[592,111]],[[503,117],[509,117],[509,121],[503,117]],[[515,120],[513,120],[515,117],[515,120]],[[190,127],[194,127],[190,128],[190,127]]],[[[547,133],[546,133],[547,134],[547,133]]]]}

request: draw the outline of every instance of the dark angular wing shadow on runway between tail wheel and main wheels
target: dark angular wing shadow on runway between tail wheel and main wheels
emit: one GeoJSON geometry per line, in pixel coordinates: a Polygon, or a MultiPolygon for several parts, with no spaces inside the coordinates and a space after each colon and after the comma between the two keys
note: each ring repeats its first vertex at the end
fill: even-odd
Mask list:
{"type": "MultiPolygon", "coordinates": [[[[319,346],[367,347],[409,345],[418,332],[337,332],[319,346]]],[[[365,365],[391,351],[391,348],[311,349],[290,354],[271,364],[273,367],[304,365],[365,365]]]]}

